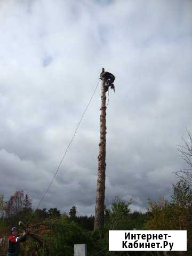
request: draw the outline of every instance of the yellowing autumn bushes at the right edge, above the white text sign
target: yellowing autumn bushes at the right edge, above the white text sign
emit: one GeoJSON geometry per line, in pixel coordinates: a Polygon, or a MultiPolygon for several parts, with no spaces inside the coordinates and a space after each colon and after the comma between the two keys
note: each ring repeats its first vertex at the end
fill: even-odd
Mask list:
{"type": "MultiPolygon", "coordinates": [[[[171,201],[160,198],[159,201],[149,200],[151,217],[145,227],[148,230],[187,230],[187,252],[192,251],[192,191],[188,183],[181,179],[173,185],[171,201]]],[[[170,255],[179,255],[173,252],[170,255]]],[[[182,255],[182,254],[181,254],[182,255]]],[[[184,254],[183,254],[184,255],[184,254]]]]}

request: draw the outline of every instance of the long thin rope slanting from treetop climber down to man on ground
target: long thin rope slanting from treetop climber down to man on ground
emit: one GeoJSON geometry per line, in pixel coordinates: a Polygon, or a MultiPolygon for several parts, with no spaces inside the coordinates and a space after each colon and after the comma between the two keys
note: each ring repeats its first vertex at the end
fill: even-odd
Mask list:
{"type": "MultiPolygon", "coordinates": [[[[53,176],[53,179],[52,179],[52,181],[51,181],[49,187],[47,188],[47,190],[45,191],[45,193],[44,193],[44,195],[42,196],[41,200],[39,201],[39,203],[38,203],[38,205],[37,205],[37,207],[36,207],[36,210],[38,209],[39,205],[42,203],[43,198],[44,198],[44,197],[46,196],[46,194],[48,193],[48,191],[49,191],[49,189],[51,188],[51,185],[52,185],[52,183],[53,183],[53,180],[55,179],[56,175],[58,174],[59,167],[61,166],[62,161],[63,161],[63,159],[65,158],[65,156],[66,156],[66,154],[67,154],[67,151],[68,151],[68,149],[69,149],[71,143],[73,142],[73,140],[74,140],[74,138],[75,138],[75,134],[76,134],[76,132],[77,132],[77,130],[78,130],[78,127],[79,127],[79,125],[81,124],[81,121],[82,121],[82,119],[83,119],[83,117],[84,117],[84,115],[85,115],[85,112],[86,112],[87,108],[89,107],[89,105],[90,105],[90,103],[91,103],[91,100],[93,99],[93,96],[94,96],[94,94],[95,94],[95,92],[96,92],[96,90],[97,90],[98,85],[99,85],[99,82],[98,82],[97,86],[95,87],[95,90],[94,90],[94,92],[93,92],[93,94],[92,94],[92,96],[91,96],[91,99],[90,99],[89,103],[87,104],[87,106],[86,106],[86,108],[85,108],[85,110],[84,110],[84,112],[83,112],[83,114],[82,114],[82,117],[81,117],[81,119],[79,120],[79,122],[78,122],[78,124],[77,124],[77,127],[76,127],[76,129],[75,129],[74,135],[73,135],[72,139],[70,140],[69,145],[67,146],[67,149],[66,149],[66,151],[65,151],[65,154],[63,155],[63,157],[62,157],[62,159],[61,159],[61,161],[60,161],[60,163],[59,163],[59,165],[58,165],[58,167],[57,167],[57,171],[55,172],[55,174],[54,174],[54,176],[53,176]]],[[[35,212],[35,211],[34,211],[34,212],[35,212]]],[[[33,215],[32,215],[32,217],[30,218],[30,220],[31,220],[32,218],[33,218],[33,215]]],[[[27,222],[27,224],[30,222],[30,220],[27,222]]],[[[27,224],[26,224],[26,226],[27,226],[27,224]]]]}

